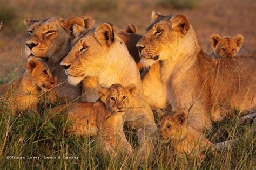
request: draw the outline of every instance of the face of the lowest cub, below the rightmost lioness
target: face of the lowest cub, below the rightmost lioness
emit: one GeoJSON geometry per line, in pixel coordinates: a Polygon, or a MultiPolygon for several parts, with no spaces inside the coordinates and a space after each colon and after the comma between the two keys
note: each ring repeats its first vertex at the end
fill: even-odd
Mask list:
{"type": "Polygon", "coordinates": [[[187,114],[178,111],[175,114],[166,113],[160,117],[158,124],[159,137],[163,140],[174,140],[181,136],[181,129],[186,126],[187,114]]]}

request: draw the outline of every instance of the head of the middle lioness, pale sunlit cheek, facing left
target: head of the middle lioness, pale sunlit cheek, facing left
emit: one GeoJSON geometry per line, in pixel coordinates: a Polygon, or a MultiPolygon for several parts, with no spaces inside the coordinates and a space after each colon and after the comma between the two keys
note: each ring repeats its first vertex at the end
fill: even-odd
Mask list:
{"type": "MultiPolygon", "coordinates": [[[[61,63],[71,84],[76,85],[85,77],[99,77],[100,80],[105,81],[105,76],[109,76],[108,73],[112,74],[116,67],[122,66],[119,65],[118,56],[125,55],[128,57],[124,60],[131,60],[123,40],[116,36],[110,24],[102,23],[91,30],[84,30],[75,25],[73,34],[76,37],[73,47],[61,63]]],[[[116,77],[108,77],[108,79],[116,79],[116,77]]],[[[107,87],[111,84],[103,85],[107,87]]]]}

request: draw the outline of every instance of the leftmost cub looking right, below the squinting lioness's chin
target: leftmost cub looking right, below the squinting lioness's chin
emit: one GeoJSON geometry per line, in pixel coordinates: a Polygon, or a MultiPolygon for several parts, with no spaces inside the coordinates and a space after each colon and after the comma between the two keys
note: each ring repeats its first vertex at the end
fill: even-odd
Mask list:
{"type": "Polygon", "coordinates": [[[38,112],[40,92],[55,86],[55,77],[42,59],[30,57],[26,66],[22,77],[14,80],[5,92],[11,103],[12,115],[25,109],[38,112]]]}

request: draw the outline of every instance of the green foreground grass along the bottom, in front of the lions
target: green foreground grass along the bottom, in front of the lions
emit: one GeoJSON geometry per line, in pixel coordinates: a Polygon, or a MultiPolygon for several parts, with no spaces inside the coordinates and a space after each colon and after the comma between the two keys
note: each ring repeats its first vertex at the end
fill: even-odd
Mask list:
{"type": "MultiPolygon", "coordinates": [[[[66,133],[70,122],[65,116],[53,119],[48,107],[42,104],[41,115],[24,112],[20,117],[9,119],[9,103],[0,103],[1,130],[0,146],[3,154],[0,168],[5,169],[176,169],[184,167],[181,160],[170,157],[170,145],[158,142],[156,152],[152,153],[151,162],[139,164],[138,159],[111,159],[100,149],[97,138],[79,138],[66,133]],[[8,136],[6,136],[8,132],[8,136]],[[5,140],[5,142],[4,142],[5,140]],[[20,157],[20,159],[9,158],[20,157]],[[30,159],[31,157],[36,157],[30,159]],[[70,157],[64,159],[64,157],[70,157]],[[72,158],[73,157],[73,158],[72,158]],[[78,159],[74,158],[78,157],[78,159]],[[23,159],[24,158],[24,159],[23,159]],[[166,160],[170,159],[169,164],[166,160]]],[[[127,138],[132,145],[138,147],[134,131],[125,128],[127,138]]],[[[207,138],[214,143],[230,139],[239,139],[232,147],[225,148],[213,155],[205,153],[206,158],[200,169],[255,169],[256,168],[256,137],[250,125],[238,124],[238,118],[225,119],[215,123],[213,130],[207,132],[207,138]]],[[[190,163],[191,169],[197,169],[195,162],[190,163]]]]}

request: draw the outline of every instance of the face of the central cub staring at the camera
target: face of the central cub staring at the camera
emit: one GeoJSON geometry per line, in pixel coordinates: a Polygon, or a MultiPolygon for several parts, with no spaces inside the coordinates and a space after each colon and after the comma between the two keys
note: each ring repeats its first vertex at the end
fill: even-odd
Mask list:
{"type": "Polygon", "coordinates": [[[130,107],[130,100],[136,86],[130,84],[123,87],[120,84],[112,84],[110,88],[98,87],[100,99],[106,104],[107,109],[113,114],[125,112],[130,107]]]}

